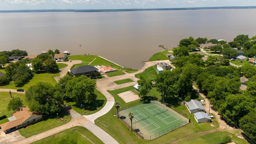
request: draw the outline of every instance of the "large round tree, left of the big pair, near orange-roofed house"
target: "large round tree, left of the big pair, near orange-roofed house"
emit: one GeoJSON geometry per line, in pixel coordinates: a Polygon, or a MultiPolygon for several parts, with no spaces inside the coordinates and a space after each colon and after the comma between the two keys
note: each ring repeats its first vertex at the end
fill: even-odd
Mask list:
{"type": "Polygon", "coordinates": [[[38,82],[31,86],[26,90],[25,96],[30,110],[40,114],[59,112],[64,104],[62,95],[47,82],[38,82]]]}

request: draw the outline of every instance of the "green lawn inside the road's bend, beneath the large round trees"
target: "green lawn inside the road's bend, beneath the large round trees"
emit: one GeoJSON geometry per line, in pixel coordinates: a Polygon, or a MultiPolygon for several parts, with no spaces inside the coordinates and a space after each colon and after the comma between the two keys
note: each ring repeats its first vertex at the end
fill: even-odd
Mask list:
{"type": "Polygon", "coordinates": [[[97,94],[96,104],[98,104],[98,106],[92,105],[92,106],[86,106],[85,108],[82,108],[80,106],[76,106],[76,102],[65,102],[65,103],[81,115],[94,114],[100,111],[105,106],[107,101],[106,97],[102,93],[99,93],[98,90],[95,89],[94,92],[95,94],[97,94]]]}

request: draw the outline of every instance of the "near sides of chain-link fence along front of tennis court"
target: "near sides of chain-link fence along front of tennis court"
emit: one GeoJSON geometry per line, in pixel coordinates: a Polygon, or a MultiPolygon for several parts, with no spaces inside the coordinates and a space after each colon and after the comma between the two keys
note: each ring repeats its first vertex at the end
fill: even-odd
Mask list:
{"type": "MultiPolygon", "coordinates": [[[[126,118],[122,118],[122,117],[124,117],[124,116],[120,116],[120,119],[121,119],[129,128],[131,128],[131,121],[130,121],[130,119],[127,120],[126,118]]],[[[186,124],[188,124],[188,123],[189,123],[189,120],[184,120],[184,121],[182,121],[182,122],[180,122],[180,123],[178,123],[178,124],[175,124],[174,126],[171,126],[171,127],[169,127],[169,128],[166,128],[166,129],[164,129],[164,130],[162,130],[162,131],[160,131],[160,132],[157,132],[156,134],[153,134],[153,135],[151,135],[151,136],[148,136],[148,135],[142,134],[141,132],[138,132],[137,129],[135,128],[134,124],[132,125],[132,130],[134,130],[134,132],[136,132],[136,134],[137,134],[138,136],[140,136],[140,138],[142,138],[143,140],[154,140],[154,139],[156,139],[156,138],[158,138],[158,137],[160,137],[160,136],[163,136],[164,134],[167,134],[168,132],[171,132],[171,131],[173,131],[173,130],[176,130],[176,129],[178,129],[178,128],[180,128],[180,127],[182,127],[182,126],[184,126],[184,125],[186,125],[186,124]]]]}

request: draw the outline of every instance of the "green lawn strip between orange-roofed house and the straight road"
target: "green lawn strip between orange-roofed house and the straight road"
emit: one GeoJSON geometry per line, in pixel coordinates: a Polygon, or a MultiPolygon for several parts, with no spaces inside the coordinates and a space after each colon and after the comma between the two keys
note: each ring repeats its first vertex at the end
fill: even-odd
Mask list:
{"type": "Polygon", "coordinates": [[[71,116],[67,116],[64,112],[60,112],[58,116],[59,116],[58,119],[54,115],[52,117],[55,117],[55,118],[49,118],[47,120],[43,120],[36,124],[30,125],[30,127],[22,128],[19,130],[19,132],[22,136],[28,138],[30,136],[34,136],[34,135],[44,132],[46,130],[50,130],[57,126],[66,124],[66,123],[70,122],[70,120],[71,120],[71,116]],[[60,120],[60,117],[62,117],[63,119],[66,119],[66,121],[62,120],[62,121],[58,122],[58,120],[60,120]]]}

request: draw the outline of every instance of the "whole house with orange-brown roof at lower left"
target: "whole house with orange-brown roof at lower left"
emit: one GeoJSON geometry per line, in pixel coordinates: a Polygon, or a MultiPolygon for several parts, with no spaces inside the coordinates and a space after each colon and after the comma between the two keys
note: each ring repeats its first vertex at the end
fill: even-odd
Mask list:
{"type": "Polygon", "coordinates": [[[9,122],[1,124],[0,127],[5,134],[18,130],[19,128],[29,126],[36,122],[40,122],[42,115],[36,115],[29,111],[28,107],[21,107],[8,118],[9,122]]]}

